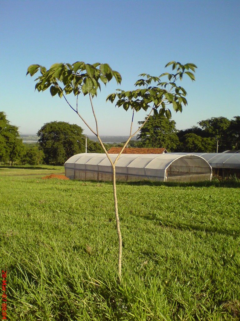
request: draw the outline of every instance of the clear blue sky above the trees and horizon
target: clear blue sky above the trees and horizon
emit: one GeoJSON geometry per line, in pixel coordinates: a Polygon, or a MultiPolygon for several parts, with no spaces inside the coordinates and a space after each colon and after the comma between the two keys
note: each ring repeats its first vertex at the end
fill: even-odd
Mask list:
{"type": "MultiPolygon", "coordinates": [[[[182,83],[188,106],[172,111],[177,129],[240,115],[239,0],[1,0],[0,36],[0,111],[21,134],[54,120],[90,134],[63,99],[34,91],[35,77],[25,76],[31,64],[100,62],[117,70],[121,86],[112,81],[93,100],[102,135],[126,135],[131,121],[131,111],[106,103],[107,95],[134,89],[140,73],[159,76],[171,60],[198,67],[196,82],[182,83]]],[[[94,126],[87,96],[80,106],[94,126]]],[[[144,117],[137,113],[134,128],[144,117]]]]}

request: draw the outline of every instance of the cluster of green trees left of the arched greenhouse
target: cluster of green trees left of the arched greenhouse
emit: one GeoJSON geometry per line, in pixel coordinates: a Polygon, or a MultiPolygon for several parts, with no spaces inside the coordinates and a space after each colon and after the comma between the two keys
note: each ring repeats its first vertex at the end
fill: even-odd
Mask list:
{"type": "MultiPolygon", "coordinates": [[[[85,136],[80,126],[66,122],[44,124],[36,144],[24,144],[18,127],[10,125],[0,112],[0,161],[4,164],[62,165],[69,157],[85,152],[85,136]]],[[[87,138],[88,152],[102,152],[99,143],[87,138]]]]}

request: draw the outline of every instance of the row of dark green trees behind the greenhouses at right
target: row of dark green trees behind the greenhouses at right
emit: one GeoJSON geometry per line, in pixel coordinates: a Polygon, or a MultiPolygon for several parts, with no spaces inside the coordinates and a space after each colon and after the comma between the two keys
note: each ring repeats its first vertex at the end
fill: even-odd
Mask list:
{"type": "MultiPolygon", "coordinates": [[[[139,125],[143,121],[139,122],[139,125]]],[[[137,136],[135,147],[165,147],[169,152],[223,152],[240,149],[240,116],[212,117],[199,126],[178,131],[174,120],[150,116],[137,136]]]]}

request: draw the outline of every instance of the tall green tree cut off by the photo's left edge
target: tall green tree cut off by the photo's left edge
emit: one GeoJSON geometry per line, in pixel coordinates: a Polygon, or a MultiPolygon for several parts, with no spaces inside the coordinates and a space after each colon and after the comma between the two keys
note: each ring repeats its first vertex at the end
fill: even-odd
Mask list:
{"type": "Polygon", "coordinates": [[[1,161],[17,162],[23,155],[24,145],[18,127],[10,125],[4,112],[0,112],[0,157],[1,161]]]}

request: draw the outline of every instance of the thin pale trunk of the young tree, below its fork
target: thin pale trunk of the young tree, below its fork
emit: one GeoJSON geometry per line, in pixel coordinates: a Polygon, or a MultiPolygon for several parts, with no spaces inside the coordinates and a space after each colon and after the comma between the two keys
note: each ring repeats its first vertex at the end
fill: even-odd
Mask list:
{"type": "Polygon", "coordinates": [[[113,168],[113,195],[114,195],[114,205],[115,205],[115,218],[116,218],[116,229],[118,236],[118,279],[121,283],[122,279],[122,235],[120,230],[120,221],[118,216],[118,206],[117,206],[117,192],[116,192],[116,169],[115,165],[113,168]]]}

